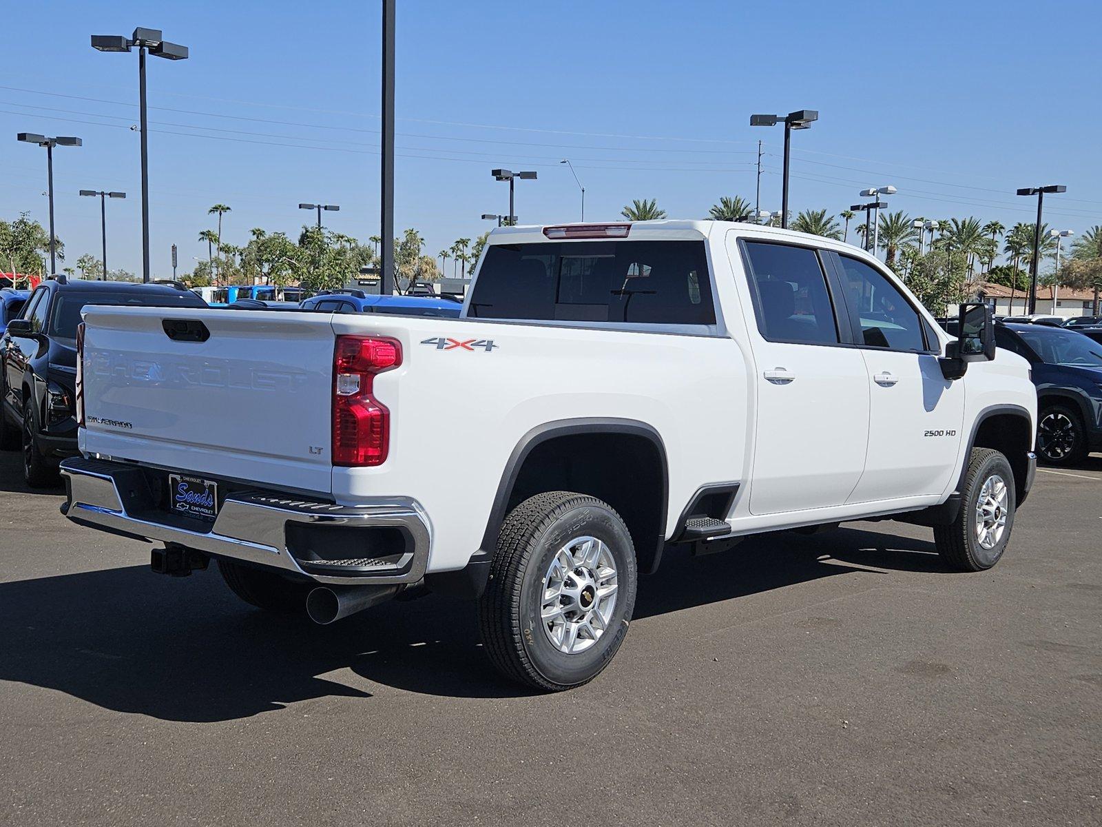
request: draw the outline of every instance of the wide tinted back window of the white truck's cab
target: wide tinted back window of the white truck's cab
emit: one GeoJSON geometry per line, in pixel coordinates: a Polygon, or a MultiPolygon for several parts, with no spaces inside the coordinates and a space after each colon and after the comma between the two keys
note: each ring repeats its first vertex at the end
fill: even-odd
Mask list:
{"type": "Polygon", "coordinates": [[[715,324],[703,241],[493,245],[468,315],[715,324]]]}

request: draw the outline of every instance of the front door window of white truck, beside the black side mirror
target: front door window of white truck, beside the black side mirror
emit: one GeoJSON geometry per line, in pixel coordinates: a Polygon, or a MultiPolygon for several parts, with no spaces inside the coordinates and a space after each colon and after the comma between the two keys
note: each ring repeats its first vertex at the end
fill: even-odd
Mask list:
{"type": "Polygon", "coordinates": [[[922,323],[899,289],[864,261],[839,256],[851,312],[861,321],[861,335],[871,347],[893,351],[926,350],[922,323]]]}

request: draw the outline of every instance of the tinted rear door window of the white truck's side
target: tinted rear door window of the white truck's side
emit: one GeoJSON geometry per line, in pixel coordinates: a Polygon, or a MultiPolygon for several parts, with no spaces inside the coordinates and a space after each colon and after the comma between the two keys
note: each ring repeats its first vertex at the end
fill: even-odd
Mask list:
{"type": "Polygon", "coordinates": [[[834,307],[814,250],[746,241],[758,330],[770,342],[838,344],[834,307]]]}

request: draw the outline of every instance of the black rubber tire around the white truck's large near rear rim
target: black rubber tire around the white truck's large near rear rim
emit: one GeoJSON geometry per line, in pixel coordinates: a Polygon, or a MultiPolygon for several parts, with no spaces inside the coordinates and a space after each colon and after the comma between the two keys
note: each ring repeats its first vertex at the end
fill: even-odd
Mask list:
{"type": "MultiPolygon", "coordinates": [[[[635,609],[636,581],[631,535],[612,506],[569,491],[537,494],[514,508],[501,524],[489,581],[478,601],[486,654],[506,677],[539,689],[560,691],[586,684],[608,665],[624,642],[635,609]],[[582,537],[596,538],[611,554],[616,600],[595,642],[568,654],[552,643],[549,624],[541,619],[543,587],[559,551],[582,537]]],[[[583,589],[580,600],[585,594],[583,589]]],[[[588,601],[592,606],[592,593],[588,601]]],[[[585,616],[592,617],[592,613],[585,616]]]]}

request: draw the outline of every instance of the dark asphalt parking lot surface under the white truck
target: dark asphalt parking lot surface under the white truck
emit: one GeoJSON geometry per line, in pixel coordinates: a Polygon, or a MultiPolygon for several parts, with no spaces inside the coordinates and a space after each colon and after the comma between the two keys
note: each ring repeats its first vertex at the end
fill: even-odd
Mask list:
{"type": "Polygon", "coordinates": [[[982,574],[895,523],[670,556],[553,696],[462,602],[273,619],[61,501],[0,454],[0,824],[1102,821],[1098,455],[982,574]]]}

